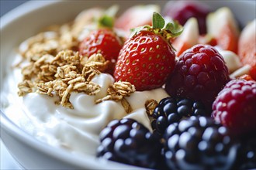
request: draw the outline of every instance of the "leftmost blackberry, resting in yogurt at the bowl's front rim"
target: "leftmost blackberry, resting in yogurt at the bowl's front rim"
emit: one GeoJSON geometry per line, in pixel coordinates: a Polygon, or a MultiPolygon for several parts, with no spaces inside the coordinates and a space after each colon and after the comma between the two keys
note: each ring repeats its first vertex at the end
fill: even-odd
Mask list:
{"type": "Polygon", "coordinates": [[[161,146],[143,124],[133,119],[111,121],[99,134],[97,156],[115,162],[156,168],[161,146]]]}

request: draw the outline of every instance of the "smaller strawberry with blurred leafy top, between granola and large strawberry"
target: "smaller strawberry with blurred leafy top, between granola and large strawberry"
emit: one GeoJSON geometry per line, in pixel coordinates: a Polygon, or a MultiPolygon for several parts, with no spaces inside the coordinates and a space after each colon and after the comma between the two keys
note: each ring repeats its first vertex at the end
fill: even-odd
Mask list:
{"type": "Polygon", "coordinates": [[[113,5],[102,12],[92,23],[94,30],[88,29],[79,45],[79,53],[82,56],[90,57],[92,54],[101,53],[109,61],[106,73],[110,74],[114,71],[117,56],[123,46],[123,37],[117,35],[113,29],[117,10],[116,5],[113,5]]]}

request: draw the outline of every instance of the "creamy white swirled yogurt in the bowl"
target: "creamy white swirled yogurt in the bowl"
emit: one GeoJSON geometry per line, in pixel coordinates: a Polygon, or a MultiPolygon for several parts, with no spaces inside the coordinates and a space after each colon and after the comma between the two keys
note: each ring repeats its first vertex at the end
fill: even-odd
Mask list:
{"type": "Polygon", "coordinates": [[[9,104],[5,108],[7,116],[40,141],[76,153],[95,155],[99,133],[113,119],[133,118],[152,131],[144,104],[146,100],[160,101],[168,97],[162,88],[136,91],[126,97],[133,109],[130,114],[126,114],[120,102],[105,100],[95,104],[95,100],[106,96],[109,85],[114,83],[112,76],[101,73],[92,79],[92,82],[99,84],[101,91],[95,96],[71,93],[70,101],[74,109],[69,109],[54,104],[58,100],[56,96],[27,93],[24,97],[18,97],[16,85],[21,80],[19,71],[16,69],[8,77],[6,94],[9,93],[9,104]],[[12,102],[13,100],[16,102],[12,102]]]}

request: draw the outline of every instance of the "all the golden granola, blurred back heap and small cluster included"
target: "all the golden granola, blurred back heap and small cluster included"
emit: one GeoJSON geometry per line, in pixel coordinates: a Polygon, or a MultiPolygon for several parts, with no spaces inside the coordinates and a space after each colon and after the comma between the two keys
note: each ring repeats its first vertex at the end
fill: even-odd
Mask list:
{"type": "MultiPolygon", "coordinates": [[[[83,22],[86,22],[81,19],[83,22]]],[[[88,95],[99,93],[99,84],[93,83],[92,78],[108,69],[110,64],[102,54],[81,56],[78,53],[78,35],[81,26],[78,22],[62,26],[50,26],[26,41],[26,48],[20,51],[23,59],[29,61],[22,67],[23,80],[18,84],[19,96],[37,92],[50,97],[57,95],[57,104],[73,108],[69,97],[72,92],[83,92],[88,95]]],[[[20,65],[19,65],[20,66],[20,65]]],[[[106,97],[96,100],[120,101],[127,113],[132,111],[125,99],[135,87],[128,82],[116,82],[107,90],[106,97]]]]}

